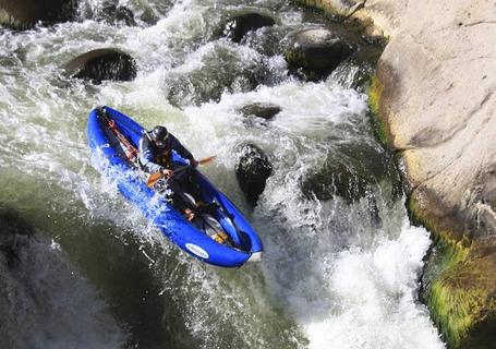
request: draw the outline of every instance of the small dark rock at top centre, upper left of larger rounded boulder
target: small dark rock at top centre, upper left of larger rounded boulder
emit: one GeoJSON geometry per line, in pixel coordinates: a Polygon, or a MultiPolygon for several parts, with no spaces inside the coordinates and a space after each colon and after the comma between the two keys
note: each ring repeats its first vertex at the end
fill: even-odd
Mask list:
{"type": "Polygon", "coordinates": [[[256,12],[238,14],[223,25],[223,35],[234,43],[240,43],[246,33],[265,26],[273,26],[276,22],[268,15],[256,12]]]}

